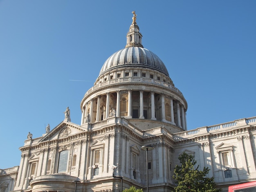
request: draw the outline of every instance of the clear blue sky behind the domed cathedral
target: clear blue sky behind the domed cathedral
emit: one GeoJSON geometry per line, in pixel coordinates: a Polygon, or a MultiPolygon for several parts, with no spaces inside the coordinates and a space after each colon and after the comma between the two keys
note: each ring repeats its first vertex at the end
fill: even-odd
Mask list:
{"type": "Polygon", "coordinates": [[[105,60],[126,45],[136,11],[144,48],[188,103],[188,129],[256,116],[255,0],[0,0],[0,168],[64,120],[105,60]]]}

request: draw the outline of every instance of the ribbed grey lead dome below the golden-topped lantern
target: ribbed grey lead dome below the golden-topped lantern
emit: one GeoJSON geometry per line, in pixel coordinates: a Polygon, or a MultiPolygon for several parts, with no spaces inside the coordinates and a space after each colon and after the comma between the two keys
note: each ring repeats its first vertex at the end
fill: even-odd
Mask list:
{"type": "Polygon", "coordinates": [[[118,67],[144,67],[155,69],[169,76],[162,60],[153,52],[143,47],[126,47],[112,54],[104,63],[99,75],[118,67]]]}

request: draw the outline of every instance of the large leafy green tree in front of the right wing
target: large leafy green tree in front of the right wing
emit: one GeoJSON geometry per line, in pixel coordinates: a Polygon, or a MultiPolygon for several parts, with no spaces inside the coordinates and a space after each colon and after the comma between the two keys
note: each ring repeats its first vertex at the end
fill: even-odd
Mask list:
{"type": "Polygon", "coordinates": [[[209,168],[204,167],[202,171],[195,168],[196,161],[192,155],[183,153],[179,156],[181,165],[176,165],[173,179],[177,180],[175,192],[220,192],[215,188],[214,178],[206,177],[209,168]]]}

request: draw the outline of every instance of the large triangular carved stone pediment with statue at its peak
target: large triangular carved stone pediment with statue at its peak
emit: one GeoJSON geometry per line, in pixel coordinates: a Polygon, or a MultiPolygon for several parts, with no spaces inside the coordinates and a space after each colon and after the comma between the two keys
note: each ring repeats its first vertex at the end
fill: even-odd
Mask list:
{"type": "Polygon", "coordinates": [[[61,139],[85,131],[87,131],[87,129],[81,127],[80,125],[63,121],[54,127],[48,134],[45,134],[40,142],[61,139]]]}

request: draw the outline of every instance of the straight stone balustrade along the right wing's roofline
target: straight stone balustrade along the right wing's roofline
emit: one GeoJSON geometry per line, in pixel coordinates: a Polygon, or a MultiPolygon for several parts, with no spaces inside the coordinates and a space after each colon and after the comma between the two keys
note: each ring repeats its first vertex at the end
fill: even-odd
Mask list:
{"type": "Polygon", "coordinates": [[[240,128],[247,125],[256,125],[256,117],[243,118],[243,119],[238,119],[228,123],[212,125],[209,127],[200,127],[200,128],[189,130],[189,131],[179,132],[179,133],[173,134],[173,138],[175,140],[182,140],[184,138],[192,138],[202,134],[215,133],[215,132],[222,131],[223,129],[225,130],[236,129],[236,128],[240,128]]]}

